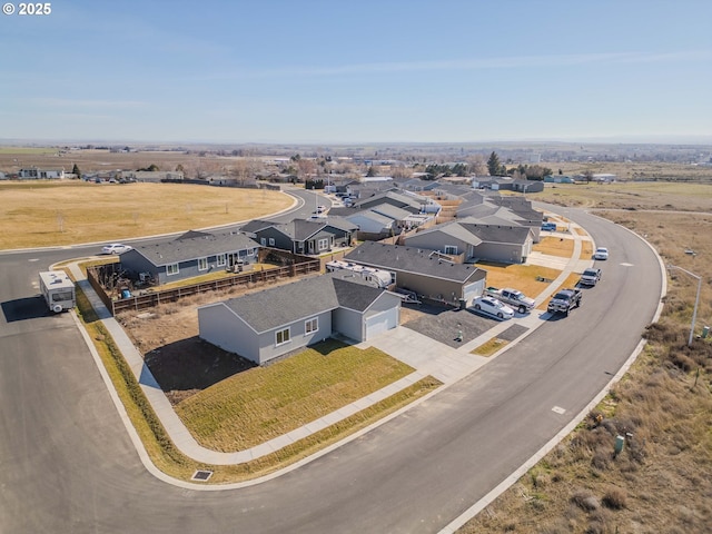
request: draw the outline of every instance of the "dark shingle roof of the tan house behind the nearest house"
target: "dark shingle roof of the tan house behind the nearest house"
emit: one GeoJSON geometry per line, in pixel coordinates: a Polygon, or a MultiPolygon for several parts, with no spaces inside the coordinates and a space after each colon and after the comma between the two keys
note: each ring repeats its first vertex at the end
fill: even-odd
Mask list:
{"type": "Polygon", "coordinates": [[[453,264],[443,260],[433,250],[415,247],[364,241],[344,259],[378,269],[416,273],[444,280],[465,283],[484,278],[486,273],[472,264],[453,264]]]}

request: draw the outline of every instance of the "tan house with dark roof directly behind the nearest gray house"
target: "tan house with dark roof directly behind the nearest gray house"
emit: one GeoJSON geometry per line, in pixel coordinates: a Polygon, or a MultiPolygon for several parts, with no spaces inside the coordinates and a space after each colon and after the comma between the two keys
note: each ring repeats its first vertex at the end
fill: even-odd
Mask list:
{"type": "Polygon", "coordinates": [[[434,250],[364,241],[344,260],[390,273],[397,288],[419,296],[469,305],[485,289],[487,271],[447,260],[434,250]]]}

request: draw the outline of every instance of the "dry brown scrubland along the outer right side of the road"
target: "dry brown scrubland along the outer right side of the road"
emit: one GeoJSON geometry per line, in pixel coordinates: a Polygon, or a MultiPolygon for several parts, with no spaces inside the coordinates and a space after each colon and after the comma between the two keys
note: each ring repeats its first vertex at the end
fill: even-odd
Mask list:
{"type": "MultiPolygon", "coordinates": [[[[619,208],[610,192],[584,191],[572,201],[619,208]]],[[[646,236],[666,264],[702,277],[700,334],[712,322],[712,188],[678,185],[670,196],[640,186],[633,191],[656,197],[654,204],[705,211],[597,214],[646,236]]],[[[671,275],[663,316],[649,327],[647,347],[624,379],[576,432],[459,533],[711,532],[712,337],[686,346],[696,280],[678,270],[671,275]],[[615,436],[626,433],[632,439],[614,456],[615,436]]]]}

